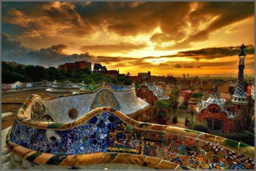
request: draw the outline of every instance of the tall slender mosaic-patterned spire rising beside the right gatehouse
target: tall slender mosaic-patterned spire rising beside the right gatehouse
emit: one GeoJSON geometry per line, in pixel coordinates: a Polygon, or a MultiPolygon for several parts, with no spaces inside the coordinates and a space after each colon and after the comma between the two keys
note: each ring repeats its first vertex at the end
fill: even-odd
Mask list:
{"type": "Polygon", "coordinates": [[[247,99],[244,92],[244,67],[245,67],[244,59],[246,56],[246,54],[244,53],[244,49],[245,49],[244,44],[242,45],[242,47],[240,47],[240,49],[242,49],[242,51],[238,55],[239,56],[238,81],[237,81],[236,91],[232,95],[232,99],[231,99],[232,104],[236,105],[238,110],[240,109],[240,105],[247,104],[247,99]]]}

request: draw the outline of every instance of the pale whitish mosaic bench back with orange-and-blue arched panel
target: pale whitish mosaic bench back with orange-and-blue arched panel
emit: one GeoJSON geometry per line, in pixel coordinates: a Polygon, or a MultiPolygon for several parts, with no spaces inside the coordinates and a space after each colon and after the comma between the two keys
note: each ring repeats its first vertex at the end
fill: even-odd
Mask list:
{"type": "Polygon", "coordinates": [[[135,88],[130,90],[113,90],[110,86],[101,86],[93,92],[47,99],[36,96],[33,98],[25,114],[32,119],[33,116],[41,116],[52,121],[66,122],[72,120],[68,116],[71,109],[75,109],[78,113],[77,117],[81,117],[91,110],[102,106],[109,106],[122,111],[126,115],[133,115],[147,109],[150,104],[136,96],[135,88]],[[40,108],[35,108],[34,106],[40,106],[40,108]]]}

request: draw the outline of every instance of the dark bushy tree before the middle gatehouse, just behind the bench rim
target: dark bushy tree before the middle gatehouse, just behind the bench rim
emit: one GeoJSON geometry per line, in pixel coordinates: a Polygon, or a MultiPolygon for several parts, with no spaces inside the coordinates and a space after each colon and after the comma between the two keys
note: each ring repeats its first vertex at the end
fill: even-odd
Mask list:
{"type": "Polygon", "coordinates": [[[165,119],[163,118],[167,116],[166,112],[164,111],[165,109],[167,109],[166,103],[163,100],[157,100],[155,102],[155,108],[157,110],[157,112],[155,112],[157,122],[159,124],[165,124],[165,119]]]}

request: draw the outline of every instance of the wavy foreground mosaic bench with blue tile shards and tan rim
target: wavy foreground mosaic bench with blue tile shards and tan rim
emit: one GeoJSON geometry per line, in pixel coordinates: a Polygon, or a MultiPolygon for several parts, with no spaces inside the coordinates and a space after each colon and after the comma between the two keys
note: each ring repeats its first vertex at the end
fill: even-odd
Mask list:
{"type": "Polygon", "coordinates": [[[254,169],[254,147],[244,143],[138,122],[105,106],[72,122],[57,121],[57,115],[56,121],[42,121],[49,118],[31,112],[46,111],[39,99],[26,99],[6,138],[8,149],[23,161],[72,168],[128,163],[157,169],[254,169]]]}

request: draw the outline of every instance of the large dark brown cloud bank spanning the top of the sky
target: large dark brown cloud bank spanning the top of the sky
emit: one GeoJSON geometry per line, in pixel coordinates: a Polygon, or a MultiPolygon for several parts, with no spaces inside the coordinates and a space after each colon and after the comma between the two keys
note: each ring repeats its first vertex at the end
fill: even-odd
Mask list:
{"type": "MultiPolygon", "coordinates": [[[[73,36],[90,35],[106,29],[121,36],[149,33],[159,27],[152,42],[161,44],[175,40],[179,47],[189,47],[193,41],[205,40],[217,29],[254,15],[253,2],[4,2],[3,21],[16,25],[29,22],[41,27],[56,26],[57,32],[73,36]],[[191,10],[192,6],[194,10],[191,10]],[[44,16],[38,18],[38,16],[44,16]],[[197,29],[209,22],[204,29],[197,29]],[[29,19],[28,19],[29,18],[29,19]],[[192,29],[187,35],[188,26],[192,29]],[[62,26],[62,27],[60,27],[62,26]],[[65,26],[65,27],[64,27],[65,26]],[[182,42],[178,42],[182,40],[182,42]]],[[[35,26],[30,26],[35,27],[35,26]]],[[[31,29],[31,28],[28,28],[31,29]]],[[[162,48],[169,49],[173,46],[162,48]]],[[[160,46],[156,48],[161,49],[160,46]]]]}

